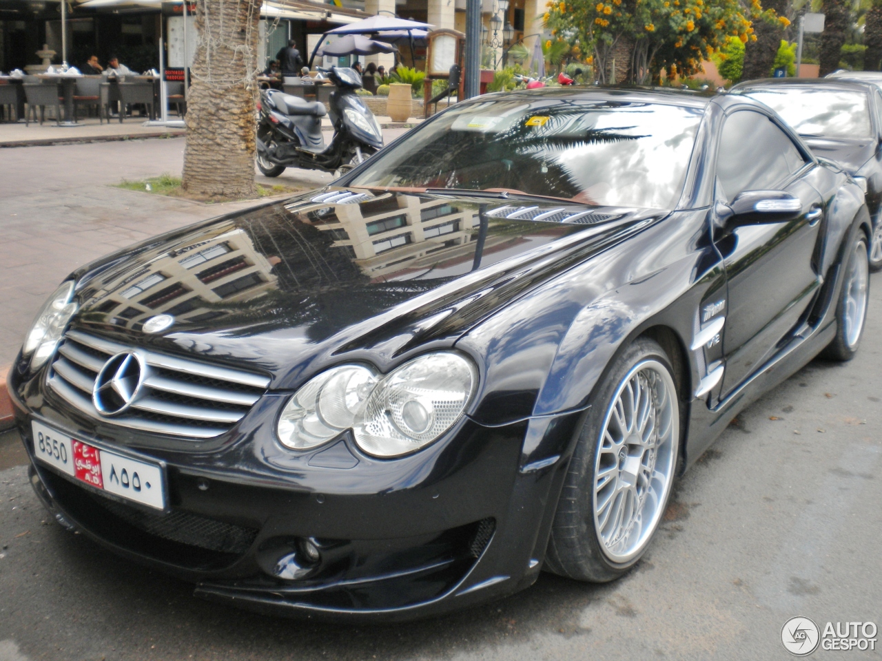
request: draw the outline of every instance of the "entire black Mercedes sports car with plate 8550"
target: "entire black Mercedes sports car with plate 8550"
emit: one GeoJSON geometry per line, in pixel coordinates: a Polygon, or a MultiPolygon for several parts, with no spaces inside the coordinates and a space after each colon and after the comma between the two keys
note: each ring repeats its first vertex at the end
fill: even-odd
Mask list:
{"type": "Polygon", "coordinates": [[[622,576],[867,306],[863,190],[745,96],[546,88],[75,271],[9,383],[56,520],[231,604],[405,619],[622,576]]]}

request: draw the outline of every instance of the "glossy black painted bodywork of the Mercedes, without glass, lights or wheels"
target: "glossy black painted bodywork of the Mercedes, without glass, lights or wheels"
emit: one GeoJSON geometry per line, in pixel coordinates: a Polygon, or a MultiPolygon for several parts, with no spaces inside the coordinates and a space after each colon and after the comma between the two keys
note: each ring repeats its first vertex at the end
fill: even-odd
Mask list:
{"type": "MultiPolygon", "coordinates": [[[[81,303],[74,328],[249,368],[268,375],[270,386],[228,433],[193,442],[77,412],[49,390],[48,367],[30,374],[19,359],[9,383],[28,451],[33,457],[35,419],[160,459],[168,464],[173,511],[253,538],[243,553],[188,553],[186,545],[119,524],[112,512],[95,516],[101,496],[34,464],[34,486],[47,506],[116,552],[198,583],[206,598],[275,613],[407,619],[534,582],[595,386],[641,334],[657,338],[678,365],[687,419],[681,456],[684,466],[694,462],[744,405],[832,337],[843,239],[856,224],[869,231],[863,192],[781,127],[806,159],[786,184],[804,200],[804,212],[727,231],[714,197],[721,127],[738,109],[777,122],[774,114],[735,95],[512,93],[525,102],[552,94],[704,108],[676,209],[597,208],[598,220],[588,225],[534,222],[493,214],[512,204],[588,209],[540,198],[349,190],[344,178],[325,191],[339,190],[340,201],[317,202],[313,192],[265,204],[89,264],[72,275],[81,303]],[[812,205],[823,210],[817,221],[806,218],[812,205]],[[401,217],[407,226],[396,225],[401,217]],[[393,230],[405,228],[411,242],[393,245],[393,230]],[[250,260],[253,289],[183,305],[199,298],[200,285],[189,275],[197,270],[181,261],[221,242],[250,260]],[[353,257],[369,244],[385,251],[353,257]],[[131,315],[118,293],[145,269],[160,268],[151,264],[165,264],[168,281],[132,300],[161,303],[131,315]],[[180,293],[187,282],[192,290],[180,293]],[[183,311],[171,312],[178,322],[168,331],[141,331],[146,318],[175,306],[183,311]],[[696,333],[717,316],[727,320],[721,338],[693,349],[696,333]],[[290,393],[325,368],[367,361],[388,372],[439,347],[475,360],[480,386],[467,415],[422,451],[381,460],[349,434],[301,452],[276,440],[290,393]],[[696,397],[701,380],[721,365],[721,382],[696,397]],[[304,538],[315,538],[329,560],[302,582],[269,576],[273,554],[298,553],[304,538]]],[[[227,282],[212,278],[241,264],[230,259],[220,271],[200,271],[199,281],[227,282]]]]}

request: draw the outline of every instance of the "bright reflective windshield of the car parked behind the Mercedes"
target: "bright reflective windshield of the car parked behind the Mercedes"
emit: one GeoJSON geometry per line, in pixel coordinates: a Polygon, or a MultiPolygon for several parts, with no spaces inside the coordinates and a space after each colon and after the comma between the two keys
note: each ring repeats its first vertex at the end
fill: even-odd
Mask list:
{"type": "Polygon", "coordinates": [[[800,135],[870,135],[870,110],[863,92],[781,85],[744,93],[772,108],[800,135]]]}

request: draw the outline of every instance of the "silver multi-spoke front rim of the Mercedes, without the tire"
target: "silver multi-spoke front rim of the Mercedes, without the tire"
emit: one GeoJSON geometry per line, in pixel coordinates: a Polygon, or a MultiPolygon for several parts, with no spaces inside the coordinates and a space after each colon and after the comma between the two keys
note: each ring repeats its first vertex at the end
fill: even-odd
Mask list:
{"type": "Polygon", "coordinates": [[[594,530],[611,561],[637,556],[662,518],[679,422],[668,369],[657,360],[639,362],[612,398],[594,461],[594,530]]]}

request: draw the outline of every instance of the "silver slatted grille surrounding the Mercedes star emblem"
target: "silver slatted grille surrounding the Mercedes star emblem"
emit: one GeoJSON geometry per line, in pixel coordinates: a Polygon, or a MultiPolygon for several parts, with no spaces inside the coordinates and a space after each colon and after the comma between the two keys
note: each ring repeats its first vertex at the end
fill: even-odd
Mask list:
{"type": "Polygon", "coordinates": [[[242,420],[269,385],[269,378],[238,369],[169,356],[67,331],[49,374],[49,386],[68,404],[93,418],[146,432],[212,438],[242,420]],[[146,366],[131,407],[104,417],[92,391],[104,363],[116,353],[138,353],[146,366]]]}

